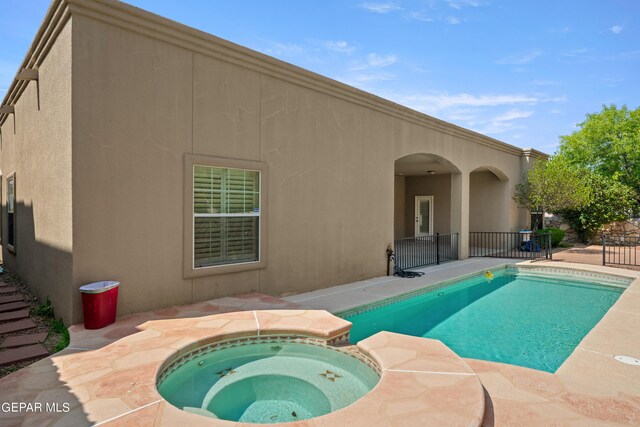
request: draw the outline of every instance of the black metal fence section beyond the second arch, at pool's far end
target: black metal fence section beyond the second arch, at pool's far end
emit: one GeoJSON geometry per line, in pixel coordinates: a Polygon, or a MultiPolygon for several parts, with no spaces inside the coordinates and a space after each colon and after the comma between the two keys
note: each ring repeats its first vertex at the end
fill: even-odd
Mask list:
{"type": "Polygon", "coordinates": [[[489,258],[552,259],[551,234],[531,231],[472,231],[469,256],[489,258]]]}

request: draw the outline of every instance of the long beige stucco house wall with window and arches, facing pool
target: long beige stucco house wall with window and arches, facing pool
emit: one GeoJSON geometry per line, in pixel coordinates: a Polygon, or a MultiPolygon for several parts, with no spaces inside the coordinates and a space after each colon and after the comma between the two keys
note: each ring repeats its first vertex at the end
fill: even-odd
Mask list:
{"type": "MultiPolygon", "coordinates": [[[[465,257],[469,210],[477,204],[470,197],[475,185],[470,172],[495,167],[507,187],[521,174],[521,155],[513,147],[500,148],[480,135],[425,120],[126,5],[103,4],[104,15],[82,7],[74,4],[72,36],[66,31],[56,42],[58,50],[73,46],[73,90],[66,87],[60,95],[72,105],[67,115],[72,113],[73,129],[67,122],[67,134],[56,140],[67,141],[55,163],[56,173],[65,169],[66,198],[56,203],[66,211],[57,207],[46,217],[50,222],[73,217],[72,233],[70,224],[47,233],[66,238],[56,244],[69,260],[50,270],[67,268],[60,276],[66,281],[61,292],[69,296],[71,289],[71,299],[58,304],[74,321],[81,320],[77,287],[95,280],[122,283],[122,315],[252,291],[298,293],[383,275],[394,224],[402,220],[405,231],[413,225],[403,217],[412,215],[407,201],[413,203],[416,194],[436,196],[436,231],[460,233],[465,257]],[[127,22],[120,20],[121,8],[127,22]],[[141,20],[130,24],[131,19],[141,20]],[[394,179],[394,162],[415,153],[446,159],[454,173],[407,178],[405,189],[394,179]],[[183,259],[191,250],[183,243],[185,221],[191,221],[184,203],[186,154],[266,165],[265,268],[185,278],[183,259]]],[[[34,205],[46,199],[39,193],[33,197],[34,205]]],[[[508,203],[506,211],[505,221],[516,224],[519,210],[508,203]]]]}

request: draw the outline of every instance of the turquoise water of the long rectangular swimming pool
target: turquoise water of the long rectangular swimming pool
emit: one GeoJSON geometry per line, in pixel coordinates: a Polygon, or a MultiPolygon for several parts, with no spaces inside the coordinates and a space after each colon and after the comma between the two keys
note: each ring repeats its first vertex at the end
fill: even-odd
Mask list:
{"type": "Polygon", "coordinates": [[[438,339],[462,357],[555,372],[626,285],[509,268],[345,318],[354,343],[398,332],[438,339]]]}

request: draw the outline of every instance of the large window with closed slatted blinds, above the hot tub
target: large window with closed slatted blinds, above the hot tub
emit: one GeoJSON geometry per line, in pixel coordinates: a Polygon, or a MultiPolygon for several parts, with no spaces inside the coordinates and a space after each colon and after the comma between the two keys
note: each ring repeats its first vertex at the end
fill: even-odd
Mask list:
{"type": "Polygon", "coordinates": [[[260,260],[260,171],[193,165],[193,267],[260,260]]]}

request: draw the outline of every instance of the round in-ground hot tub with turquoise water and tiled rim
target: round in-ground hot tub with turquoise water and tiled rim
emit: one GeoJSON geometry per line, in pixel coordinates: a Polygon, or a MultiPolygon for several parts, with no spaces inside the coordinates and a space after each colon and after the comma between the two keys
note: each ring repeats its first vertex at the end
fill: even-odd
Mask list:
{"type": "Polygon", "coordinates": [[[188,412],[282,423],[344,408],[369,392],[379,368],[354,348],[307,337],[245,337],[197,348],[165,367],[158,390],[188,412]]]}

